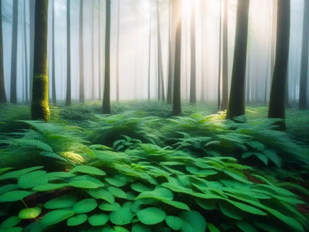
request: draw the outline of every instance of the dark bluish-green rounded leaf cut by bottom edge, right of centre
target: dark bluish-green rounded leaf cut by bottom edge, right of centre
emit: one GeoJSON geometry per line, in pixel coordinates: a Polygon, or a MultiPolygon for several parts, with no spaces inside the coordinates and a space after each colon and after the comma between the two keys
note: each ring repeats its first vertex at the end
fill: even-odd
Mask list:
{"type": "Polygon", "coordinates": [[[197,211],[184,211],[180,214],[183,220],[181,232],[205,232],[207,224],[205,218],[197,211]]]}

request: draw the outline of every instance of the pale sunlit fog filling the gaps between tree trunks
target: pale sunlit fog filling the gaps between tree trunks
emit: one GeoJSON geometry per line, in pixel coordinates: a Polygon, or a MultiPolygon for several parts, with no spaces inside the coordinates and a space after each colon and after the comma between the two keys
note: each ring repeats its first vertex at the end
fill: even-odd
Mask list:
{"type": "MultiPolygon", "coordinates": [[[[291,0],[291,29],[290,29],[290,54],[289,54],[289,94],[290,98],[298,99],[298,85],[302,49],[302,24],[303,1],[291,0]],[[294,87],[296,86],[296,88],[294,87]],[[292,88],[293,87],[293,88],[292,88]]],[[[150,54],[150,87],[151,97],[156,96],[156,53],[157,53],[157,25],[155,1],[150,0],[119,0],[120,2],[120,45],[119,45],[119,92],[120,100],[146,99],[148,85],[148,45],[149,22],[151,9],[151,54],[150,54]]],[[[117,41],[117,7],[118,0],[112,0],[111,19],[111,100],[116,99],[116,41],[117,41]]],[[[269,45],[272,25],[272,1],[250,0],[249,35],[250,36],[250,78],[251,87],[263,86],[266,79],[267,96],[270,90],[270,68],[267,69],[269,57],[269,45]],[[268,73],[267,73],[268,70],[268,73]],[[267,78],[268,77],[268,78],[267,78]]],[[[51,83],[51,40],[52,40],[52,0],[49,0],[48,15],[48,66],[49,83],[51,83]]],[[[29,51],[29,1],[19,0],[19,25],[18,25],[18,61],[17,61],[17,94],[18,100],[23,98],[23,4],[26,4],[26,33],[27,51],[29,51]]],[[[94,0],[94,23],[92,20],[92,1],[84,1],[83,13],[83,50],[84,50],[84,78],[85,98],[91,98],[91,65],[94,64],[95,72],[95,98],[99,97],[99,71],[104,79],[104,46],[105,46],[105,1],[94,0]],[[100,6],[99,6],[100,1],[100,6]],[[100,20],[99,20],[100,13],[100,20]],[[100,27],[99,27],[100,24],[100,27]],[[92,26],[94,27],[94,57],[91,55],[92,26]],[[100,35],[100,40],[99,40],[100,35]],[[100,49],[99,49],[100,43],[100,49]],[[99,63],[100,55],[100,63],[99,63]]],[[[235,40],[236,0],[229,1],[228,15],[228,59],[229,59],[229,83],[233,65],[233,52],[235,40]]],[[[12,0],[2,0],[2,30],[3,30],[3,54],[4,77],[6,95],[10,96],[11,73],[11,43],[12,43],[12,0]]],[[[189,96],[190,76],[190,10],[191,0],[183,0],[182,18],[182,66],[181,66],[181,95],[183,99],[189,96]],[[187,53],[186,53],[187,51],[187,53]],[[187,60],[187,63],[186,63],[187,60]]],[[[160,0],[160,32],[162,43],[162,60],[164,86],[166,92],[167,67],[168,67],[168,26],[169,12],[168,1],[160,0]]],[[[201,78],[205,79],[205,89],[208,100],[217,99],[218,91],[218,63],[219,63],[219,30],[220,30],[220,1],[197,0],[196,9],[196,79],[197,99],[201,97],[201,78]],[[205,1],[202,9],[201,1],[205,1]],[[202,14],[205,24],[202,28],[202,14]],[[204,40],[202,41],[202,32],[204,40]],[[202,50],[202,42],[204,50],[202,50]],[[204,63],[202,64],[202,53],[204,63]],[[204,72],[202,73],[202,66],[204,72]]],[[[78,99],[79,83],[79,1],[71,1],[71,79],[72,99],[78,99]]],[[[66,91],[66,0],[55,0],[55,77],[57,99],[65,98],[66,91]]],[[[29,58],[28,58],[29,65],[29,58]]],[[[28,69],[29,72],[29,69],[28,69]]],[[[29,75],[29,73],[28,73],[29,75]]],[[[103,83],[103,81],[101,81],[103,83]]],[[[100,87],[103,91],[103,84],[100,87]]],[[[51,94],[51,84],[49,85],[51,94]]],[[[261,93],[264,95],[264,93],[261,93]]],[[[252,97],[252,95],[251,95],[252,97]]],[[[253,96],[262,98],[261,96],[253,96]]],[[[264,97],[264,96],[263,96],[264,97]]]]}

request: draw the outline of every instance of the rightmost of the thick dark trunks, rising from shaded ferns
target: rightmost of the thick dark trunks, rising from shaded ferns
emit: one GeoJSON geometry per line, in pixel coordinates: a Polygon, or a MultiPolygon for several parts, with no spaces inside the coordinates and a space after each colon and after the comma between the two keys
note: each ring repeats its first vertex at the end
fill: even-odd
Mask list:
{"type": "Polygon", "coordinates": [[[286,130],[285,89],[290,49],[290,17],[291,1],[278,1],[276,59],[270,91],[268,118],[283,119],[277,123],[281,130],[286,130]]]}

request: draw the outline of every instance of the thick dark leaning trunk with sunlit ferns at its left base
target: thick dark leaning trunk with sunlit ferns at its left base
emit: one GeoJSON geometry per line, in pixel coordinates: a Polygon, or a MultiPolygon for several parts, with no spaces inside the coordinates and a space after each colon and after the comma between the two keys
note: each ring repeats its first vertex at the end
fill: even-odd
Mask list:
{"type": "Polygon", "coordinates": [[[245,78],[248,42],[248,18],[250,1],[238,1],[236,12],[235,50],[230,99],[226,118],[245,114],[245,78]]]}

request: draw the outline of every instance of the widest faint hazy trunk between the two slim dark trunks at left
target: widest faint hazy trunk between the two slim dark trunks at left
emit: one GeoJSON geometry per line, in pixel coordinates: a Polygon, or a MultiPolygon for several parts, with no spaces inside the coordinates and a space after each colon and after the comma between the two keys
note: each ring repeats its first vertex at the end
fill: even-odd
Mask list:
{"type": "MultiPolygon", "coordinates": [[[[84,0],[80,0],[79,2],[79,103],[85,103],[84,47],[83,47],[83,42],[84,42],[83,41],[83,7],[84,6],[83,6],[83,2],[84,0]]],[[[61,68],[61,71],[62,71],[62,68],[61,68]]]]}

